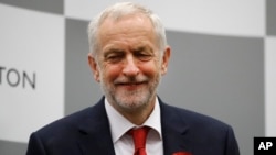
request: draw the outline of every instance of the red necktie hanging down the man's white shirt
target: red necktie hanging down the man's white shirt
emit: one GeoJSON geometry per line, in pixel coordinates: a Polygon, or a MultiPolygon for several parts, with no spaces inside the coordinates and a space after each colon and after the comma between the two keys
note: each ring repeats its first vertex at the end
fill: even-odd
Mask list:
{"type": "Polygon", "coordinates": [[[139,129],[132,129],[129,133],[132,135],[135,142],[135,154],[134,155],[147,155],[146,153],[146,139],[149,128],[142,126],[139,129]]]}

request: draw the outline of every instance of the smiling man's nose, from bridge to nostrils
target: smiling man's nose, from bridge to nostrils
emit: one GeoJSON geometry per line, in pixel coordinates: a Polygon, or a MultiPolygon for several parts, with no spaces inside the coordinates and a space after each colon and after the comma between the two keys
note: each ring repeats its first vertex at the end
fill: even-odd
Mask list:
{"type": "Polygon", "coordinates": [[[134,56],[129,55],[126,57],[125,66],[123,69],[125,76],[137,76],[139,74],[139,68],[136,64],[134,56]]]}

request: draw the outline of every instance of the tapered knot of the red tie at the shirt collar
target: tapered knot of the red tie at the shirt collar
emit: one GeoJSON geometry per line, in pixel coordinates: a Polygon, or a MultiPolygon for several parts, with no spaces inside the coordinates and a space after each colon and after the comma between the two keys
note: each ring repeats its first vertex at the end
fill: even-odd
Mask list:
{"type": "Polygon", "coordinates": [[[136,151],[146,147],[146,139],[147,139],[148,132],[149,132],[148,126],[142,126],[139,129],[131,129],[129,131],[129,134],[132,135],[136,151]]]}

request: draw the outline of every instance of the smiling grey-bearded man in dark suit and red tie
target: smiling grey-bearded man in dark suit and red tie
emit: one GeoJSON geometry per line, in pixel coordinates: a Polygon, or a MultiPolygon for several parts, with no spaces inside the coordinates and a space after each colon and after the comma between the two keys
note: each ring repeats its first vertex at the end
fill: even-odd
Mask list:
{"type": "Polygon", "coordinates": [[[105,97],[32,133],[26,155],[238,155],[231,126],[157,97],[171,49],[156,14],[117,3],[88,33],[88,64],[105,97]]]}

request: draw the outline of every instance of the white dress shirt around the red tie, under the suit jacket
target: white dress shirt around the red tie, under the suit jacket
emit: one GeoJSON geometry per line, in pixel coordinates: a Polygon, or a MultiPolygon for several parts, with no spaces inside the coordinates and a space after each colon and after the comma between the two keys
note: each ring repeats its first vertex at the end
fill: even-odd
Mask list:
{"type": "MultiPolygon", "coordinates": [[[[124,118],[117,110],[115,110],[108,103],[107,99],[105,99],[105,109],[109,120],[112,137],[116,155],[132,155],[135,152],[134,140],[131,135],[127,134],[126,132],[132,128],[139,128],[139,126],[132,124],[126,118],[124,118]]],[[[151,128],[146,141],[147,155],[162,155],[163,144],[162,144],[162,132],[161,132],[161,117],[160,117],[160,106],[157,98],[151,114],[146,120],[146,122],[140,126],[144,125],[151,128]]]]}

